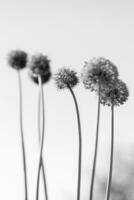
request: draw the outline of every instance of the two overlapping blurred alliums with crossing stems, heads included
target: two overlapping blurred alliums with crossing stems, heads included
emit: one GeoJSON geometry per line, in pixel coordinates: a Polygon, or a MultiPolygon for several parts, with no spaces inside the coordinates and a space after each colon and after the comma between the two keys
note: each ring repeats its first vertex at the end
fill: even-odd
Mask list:
{"type": "Polygon", "coordinates": [[[38,137],[40,144],[40,155],[39,155],[39,164],[38,164],[38,175],[37,175],[37,184],[36,184],[36,200],[39,199],[39,181],[40,181],[40,170],[42,169],[45,198],[48,200],[47,192],[47,182],[45,175],[45,167],[43,160],[43,146],[44,146],[44,132],[45,132],[45,111],[44,111],[44,92],[43,84],[48,82],[51,77],[50,71],[50,61],[43,54],[36,54],[32,56],[29,63],[29,75],[31,79],[39,85],[39,99],[38,99],[38,137]],[[42,105],[42,106],[41,106],[42,105]],[[42,111],[42,113],[41,113],[42,111]],[[42,116],[41,116],[42,115],[42,116]],[[42,117],[42,127],[41,118],[42,117]]]}

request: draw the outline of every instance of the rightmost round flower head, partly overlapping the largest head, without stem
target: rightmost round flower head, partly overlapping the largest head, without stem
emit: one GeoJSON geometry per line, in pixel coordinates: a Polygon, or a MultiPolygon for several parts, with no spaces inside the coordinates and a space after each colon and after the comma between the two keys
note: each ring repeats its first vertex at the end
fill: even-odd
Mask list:
{"type": "Polygon", "coordinates": [[[100,103],[108,106],[119,106],[128,100],[128,96],[128,87],[123,81],[117,79],[112,86],[101,90],[100,103]]]}

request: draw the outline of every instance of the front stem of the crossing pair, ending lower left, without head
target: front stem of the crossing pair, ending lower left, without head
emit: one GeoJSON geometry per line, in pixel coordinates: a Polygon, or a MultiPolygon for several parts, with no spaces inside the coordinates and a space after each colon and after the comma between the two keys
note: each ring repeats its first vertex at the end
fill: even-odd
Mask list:
{"type": "Polygon", "coordinates": [[[41,163],[42,163],[42,152],[43,152],[43,146],[44,146],[44,130],[45,130],[44,93],[43,93],[42,79],[40,76],[38,76],[38,82],[39,82],[41,101],[42,101],[42,134],[41,134],[41,142],[40,142],[39,164],[38,164],[38,171],[37,171],[36,200],[39,199],[39,180],[40,180],[40,169],[41,169],[41,163]]]}

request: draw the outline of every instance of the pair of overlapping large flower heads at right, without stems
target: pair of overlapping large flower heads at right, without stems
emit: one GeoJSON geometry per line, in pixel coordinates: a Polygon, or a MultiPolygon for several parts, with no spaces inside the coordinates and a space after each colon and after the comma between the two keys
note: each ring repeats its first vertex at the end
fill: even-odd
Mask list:
{"type": "Polygon", "coordinates": [[[128,88],[118,76],[117,67],[102,57],[85,62],[81,74],[85,88],[99,92],[100,103],[108,106],[119,106],[128,99],[128,88]]]}

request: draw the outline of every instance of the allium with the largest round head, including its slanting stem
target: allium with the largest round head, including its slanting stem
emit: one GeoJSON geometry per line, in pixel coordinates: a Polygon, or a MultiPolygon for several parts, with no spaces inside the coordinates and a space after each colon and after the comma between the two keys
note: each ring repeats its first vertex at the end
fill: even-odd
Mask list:
{"type": "Polygon", "coordinates": [[[91,185],[89,199],[93,199],[94,179],[96,173],[96,161],[98,153],[99,121],[100,121],[100,93],[108,85],[112,85],[118,77],[117,67],[108,59],[103,57],[93,58],[90,62],[85,62],[81,73],[81,79],[86,89],[95,91],[98,94],[98,111],[95,137],[94,159],[92,166],[91,185]]]}

